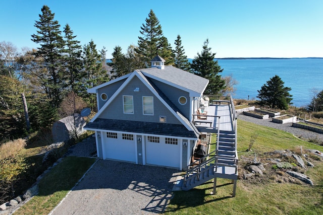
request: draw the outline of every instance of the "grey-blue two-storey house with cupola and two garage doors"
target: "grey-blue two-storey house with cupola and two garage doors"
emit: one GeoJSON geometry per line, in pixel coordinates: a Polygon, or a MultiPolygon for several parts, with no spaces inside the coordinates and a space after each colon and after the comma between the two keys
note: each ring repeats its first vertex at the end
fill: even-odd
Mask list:
{"type": "Polygon", "coordinates": [[[208,80],[164,62],[157,55],[151,68],[88,89],[98,112],[84,128],[95,131],[99,158],[186,170],[200,135],[194,114],[208,80]]]}

